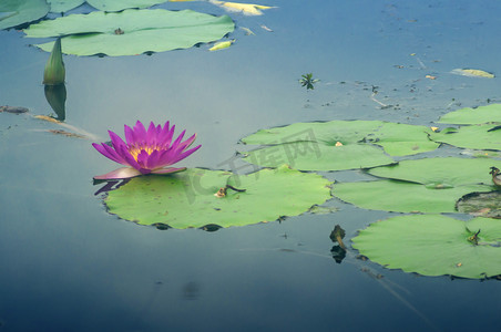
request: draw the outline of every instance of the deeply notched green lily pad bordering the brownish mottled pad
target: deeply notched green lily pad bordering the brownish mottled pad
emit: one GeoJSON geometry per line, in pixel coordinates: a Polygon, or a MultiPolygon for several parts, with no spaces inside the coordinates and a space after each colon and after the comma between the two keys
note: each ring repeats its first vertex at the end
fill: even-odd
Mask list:
{"type": "Polygon", "coordinates": [[[454,212],[456,203],[473,191],[492,190],[491,166],[498,160],[426,158],[403,160],[368,172],[390,179],[335,184],[333,194],[366,209],[398,212],[454,212]]]}

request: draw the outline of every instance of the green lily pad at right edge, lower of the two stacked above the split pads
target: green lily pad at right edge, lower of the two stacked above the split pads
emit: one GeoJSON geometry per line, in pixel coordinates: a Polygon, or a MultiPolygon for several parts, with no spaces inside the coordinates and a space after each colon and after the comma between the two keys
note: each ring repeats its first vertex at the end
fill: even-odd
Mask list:
{"type": "Polygon", "coordinates": [[[501,127],[495,124],[446,128],[430,134],[430,138],[458,147],[501,151],[501,127]]]}

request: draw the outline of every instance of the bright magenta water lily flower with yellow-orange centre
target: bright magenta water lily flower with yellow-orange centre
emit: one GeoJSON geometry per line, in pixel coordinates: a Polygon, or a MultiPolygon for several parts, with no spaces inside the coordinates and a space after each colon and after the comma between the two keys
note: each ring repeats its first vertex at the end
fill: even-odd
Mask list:
{"type": "Polygon", "coordinates": [[[129,167],[122,167],[104,175],[94,176],[94,179],[130,178],[143,174],[168,174],[186,169],[186,167],[166,167],[173,165],[197,151],[202,145],[187,149],[195,141],[196,134],[183,141],[186,131],[183,131],[174,141],[175,125],[170,126],[167,121],[162,127],[150,123],[147,131],[137,121],[134,128],[125,127],[125,142],[115,133],[109,131],[111,146],[93,143],[102,155],[129,167]]]}

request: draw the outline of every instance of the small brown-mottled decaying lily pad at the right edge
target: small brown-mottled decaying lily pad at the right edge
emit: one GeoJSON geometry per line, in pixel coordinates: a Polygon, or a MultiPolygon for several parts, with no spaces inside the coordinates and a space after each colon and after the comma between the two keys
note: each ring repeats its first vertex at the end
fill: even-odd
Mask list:
{"type": "Polygon", "coordinates": [[[501,219],[501,191],[464,195],[458,200],[456,207],[463,214],[501,219]]]}

